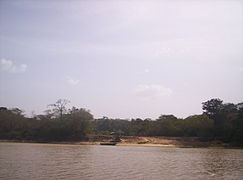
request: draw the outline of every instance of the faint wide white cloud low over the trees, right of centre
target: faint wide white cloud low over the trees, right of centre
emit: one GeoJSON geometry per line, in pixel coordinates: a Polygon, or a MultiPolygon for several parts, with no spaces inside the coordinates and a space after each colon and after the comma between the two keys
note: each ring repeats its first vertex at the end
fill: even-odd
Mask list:
{"type": "Polygon", "coordinates": [[[135,88],[135,93],[144,100],[170,96],[172,90],[158,84],[140,84],[135,88]]]}

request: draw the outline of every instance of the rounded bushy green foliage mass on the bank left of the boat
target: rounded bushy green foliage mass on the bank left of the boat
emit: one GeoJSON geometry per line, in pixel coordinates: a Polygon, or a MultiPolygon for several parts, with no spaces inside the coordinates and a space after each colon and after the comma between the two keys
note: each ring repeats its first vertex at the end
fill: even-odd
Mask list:
{"type": "MultiPolygon", "coordinates": [[[[63,111],[64,112],[64,111],[63,111]]],[[[27,118],[17,109],[0,108],[0,138],[37,141],[81,140],[90,131],[93,115],[72,108],[62,118],[49,114],[27,118]]]]}

